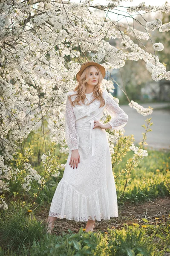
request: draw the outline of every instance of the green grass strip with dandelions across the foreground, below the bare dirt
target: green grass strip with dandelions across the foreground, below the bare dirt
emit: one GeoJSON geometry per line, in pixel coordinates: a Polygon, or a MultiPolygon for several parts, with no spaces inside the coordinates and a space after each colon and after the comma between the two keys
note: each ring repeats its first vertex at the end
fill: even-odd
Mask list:
{"type": "Polygon", "coordinates": [[[45,226],[14,202],[0,220],[0,256],[163,256],[170,252],[170,219],[160,225],[128,226],[107,232],[46,234],[45,226]],[[32,217],[31,217],[32,216],[32,217]],[[143,226],[143,227],[142,227],[143,226]]]}

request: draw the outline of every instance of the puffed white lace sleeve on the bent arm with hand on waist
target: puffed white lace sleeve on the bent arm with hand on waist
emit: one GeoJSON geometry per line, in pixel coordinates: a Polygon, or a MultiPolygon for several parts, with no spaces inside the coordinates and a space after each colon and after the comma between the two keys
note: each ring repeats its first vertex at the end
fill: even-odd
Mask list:
{"type": "Polygon", "coordinates": [[[129,119],[129,116],[123,111],[122,108],[118,106],[118,104],[114,101],[114,99],[109,96],[107,92],[107,102],[106,109],[112,118],[109,121],[109,124],[112,126],[111,130],[120,130],[123,128],[129,119]]]}

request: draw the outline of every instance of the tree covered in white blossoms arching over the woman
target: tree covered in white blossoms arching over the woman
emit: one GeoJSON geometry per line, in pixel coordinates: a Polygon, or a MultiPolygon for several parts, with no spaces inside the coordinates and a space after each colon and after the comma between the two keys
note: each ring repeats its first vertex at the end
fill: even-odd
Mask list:
{"type": "MultiPolygon", "coordinates": [[[[111,0],[105,6],[95,5],[92,0],[80,3],[71,3],[70,0],[0,1],[0,192],[9,190],[9,181],[22,168],[25,171],[23,189],[30,189],[34,177],[39,184],[44,184],[44,178],[26,163],[29,149],[26,150],[22,168],[12,169],[10,166],[23,140],[38,126],[42,126],[47,151],[44,121],[48,121],[51,141],[60,143],[62,152],[68,152],[63,136],[65,95],[75,87],[75,75],[84,61],[102,62],[106,71],[111,71],[123,67],[126,60],[141,59],[153,80],[170,80],[170,71],[156,55],[156,51],[163,50],[164,46],[162,43],[154,44],[149,34],[155,29],[159,29],[160,33],[168,32],[170,22],[162,24],[160,19],[147,22],[143,18],[140,25],[144,32],[129,23],[124,30],[120,20],[113,22],[108,18],[108,13],[116,13],[120,6],[120,0],[111,0]],[[105,17],[96,15],[96,9],[105,17]],[[142,49],[139,43],[135,44],[131,37],[135,37],[141,45],[141,40],[150,40],[153,53],[142,49]],[[110,39],[120,40],[120,48],[109,44],[110,39]]],[[[124,17],[138,21],[131,14],[139,14],[139,11],[169,13],[170,6],[146,6],[141,3],[129,7],[124,17]]],[[[116,81],[104,79],[102,86],[111,91],[114,89],[113,82],[116,81]]],[[[138,113],[144,116],[152,113],[152,108],[143,108],[137,102],[130,101],[128,96],[127,100],[138,113]]],[[[118,99],[115,101],[118,102],[118,99]]],[[[112,136],[109,139],[112,140],[112,136]]],[[[130,149],[139,152],[139,156],[147,155],[134,145],[130,149]]],[[[47,169],[46,160],[49,158],[50,153],[42,155],[47,169]]],[[[54,159],[52,161],[56,163],[54,159]]],[[[57,177],[56,171],[51,173],[57,177]]],[[[5,209],[2,197],[1,201],[0,207],[5,209]]]]}

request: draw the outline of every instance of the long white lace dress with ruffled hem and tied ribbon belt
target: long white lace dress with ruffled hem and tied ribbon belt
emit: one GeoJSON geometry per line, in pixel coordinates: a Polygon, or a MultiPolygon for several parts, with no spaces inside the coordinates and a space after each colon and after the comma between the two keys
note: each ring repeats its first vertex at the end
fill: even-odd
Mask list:
{"type": "Polygon", "coordinates": [[[68,92],[66,99],[65,124],[69,155],[63,177],[52,199],[49,216],[75,221],[101,221],[118,217],[107,132],[100,127],[92,128],[93,120],[100,121],[105,108],[112,116],[109,121],[111,130],[123,128],[128,122],[128,115],[109,96],[107,90],[103,90],[105,105],[101,108],[98,100],[86,105],[87,99],[91,101],[93,98],[93,93],[86,94],[85,104],[72,107],[68,95],[74,93],[68,92]],[[78,149],[80,154],[77,169],[69,165],[73,149],[78,149]]]}

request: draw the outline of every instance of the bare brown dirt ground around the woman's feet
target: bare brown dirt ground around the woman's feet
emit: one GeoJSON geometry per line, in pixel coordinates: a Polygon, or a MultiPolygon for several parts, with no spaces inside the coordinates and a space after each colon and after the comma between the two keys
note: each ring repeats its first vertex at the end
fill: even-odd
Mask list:
{"type": "MultiPolygon", "coordinates": [[[[36,214],[37,220],[43,221],[46,223],[48,218],[49,209],[44,208],[41,212],[36,214]]],[[[119,217],[111,218],[110,220],[101,220],[95,221],[95,230],[100,230],[102,232],[107,231],[107,227],[121,229],[124,227],[124,223],[128,225],[132,223],[138,223],[140,225],[144,224],[142,218],[147,218],[149,220],[149,224],[157,224],[164,221],[167,221],[168,215],[170,215],[170,197],[165,196],[164,198],[156,198],[154,200],[145,202],[143,204],[130,204],[125,203],[124,205],[118,206],[118,214],[119,217]],[[160,205],[160,206],[159,206],[160,205]],[[165,208],[167,209],[165,209],[165,208]],[[162,216],[164,215],[164,217],[162,216]],[[155,218],[159,218],[156,220],[155,218]]],[[[57,236],[63,235],[63,232],[69,233],[68,229],[72,230],[74,233],[78,233],[80,228],[86,227],[86,221],[70,221],[65,219],[59,219],[55,221],[53,233],[56,233],[57,236]]]]}

